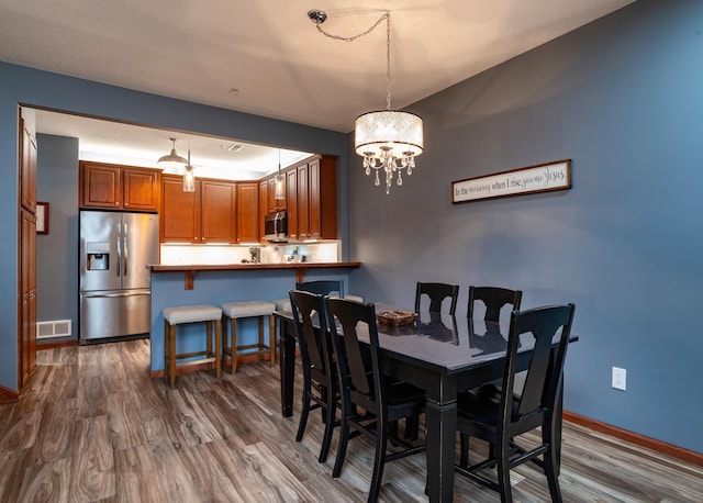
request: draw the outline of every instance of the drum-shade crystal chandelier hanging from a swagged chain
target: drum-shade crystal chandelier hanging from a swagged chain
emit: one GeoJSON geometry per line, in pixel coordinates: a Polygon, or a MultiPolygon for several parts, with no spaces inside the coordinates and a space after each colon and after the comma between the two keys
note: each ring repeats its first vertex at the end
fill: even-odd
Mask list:
{"type": "Polygon", "coordinates": [[[332,35],[322,29],[327,19],[324,11],[312,10],[308,16],[323,35],[353,42],[367,35],[386,21],[386,110],[362,113],[356,119],[354,148],[364,157],[367,175],[375,172],[373,183],[381,185],[379,171],[386,175],[386,193],[390,193],[393,178],[398,186],[403,185],[403,170],[408,176],[415,168],[415,157],[423,152],[423,124],[419,115],[391,109],[391,13],[386,11],[376,23],[357,35],[344,37],[332,35]]]}

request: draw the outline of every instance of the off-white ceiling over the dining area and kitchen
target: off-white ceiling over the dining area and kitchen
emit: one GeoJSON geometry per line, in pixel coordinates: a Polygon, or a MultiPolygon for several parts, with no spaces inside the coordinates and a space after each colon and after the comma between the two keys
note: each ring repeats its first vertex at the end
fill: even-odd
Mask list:
{"type": "MultiPolygon", "coordinates": [[[[384,24],[342,42],[315,30],[311,9],[345,37],[391,11],[392,108],[402,109],[632,1],[0,0],[0,60],[347,133],[358,114],[386,108],[384,24]]],[[[171,148],[163,130],[49,112],[37,131],[79,137],[81,157],[137,165],[171,148]]],[[[203,169],[278,165],[277,148],[233,153],[236,138],[175,136],[203,169]]],[[[281,153],[282,164],[301,156],[281,153]]]]}

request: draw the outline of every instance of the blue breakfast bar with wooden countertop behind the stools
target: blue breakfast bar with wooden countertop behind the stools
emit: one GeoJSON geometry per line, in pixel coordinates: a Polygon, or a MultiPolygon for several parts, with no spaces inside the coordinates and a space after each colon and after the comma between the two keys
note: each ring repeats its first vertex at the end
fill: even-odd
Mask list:
{"type": "MultiPolygon", "coordinates": [[[[277,262],[225,265],[150,265],[152,271],[152,331],[150,375],[164,375],[164,318],[167,306],[242,302],[252,300],[275,301],[288,297],[295,282],[315,279],[334,279],[348,282],[349,273],[361,262],[277,262]]],[[[198,326],[179,327],[179,353],[201,350],[202,336],[188,337],[198,326]],[[181,342],[181,334],[186,338],[181,342]],[[192,345],[191,345],[192,343],[192,345]]],[[[242,344],[258,338],[256,320],[239,322],[242,344]]]]}

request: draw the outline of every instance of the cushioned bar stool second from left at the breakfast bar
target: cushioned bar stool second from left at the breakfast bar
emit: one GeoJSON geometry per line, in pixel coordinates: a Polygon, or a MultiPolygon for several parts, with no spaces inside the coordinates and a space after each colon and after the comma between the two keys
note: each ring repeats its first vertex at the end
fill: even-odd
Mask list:
{"type": "Polygon", "coordinates": [[[247,349],[256,349],[247,351],[247,355],[259,355],[259,359],[266,353],[270,353],[271,367],[276,364],[276,321],[274,320],[274,311],[276,304],[267,301],[245,301],[245,302],[226,302],[222,304],[222,359],[225,355],[230,355],[232,359],[232,373],[237,371],[237,355],[239,351],[247,349]],[[257,317],[259,322],[259,342],[255,344],[237,344],[237,320],[257,317]],[[264,344],[264,318],[268,317],[269,323],[269,344],[264,344]],[[227,340],[227,320],[230,331],[232,332],[232,344],[227,340]]]}

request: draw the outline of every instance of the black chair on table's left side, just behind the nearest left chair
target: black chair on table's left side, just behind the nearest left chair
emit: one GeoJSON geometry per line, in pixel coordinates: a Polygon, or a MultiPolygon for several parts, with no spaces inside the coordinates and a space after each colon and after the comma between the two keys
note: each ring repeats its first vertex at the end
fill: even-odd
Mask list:
{"type": "Polygon", "coordinates": [[[339,393],[330,332],[326,329],[324,298],[300,290],[291,290],[288,294],[303,369],[302,409],[295,441],[303,439],[310,411],[322,409],[325,431],[317,460],[325,462],[332,444],[339,393]],[[319,328],[315,328],[315,322],[319,328]]]}

